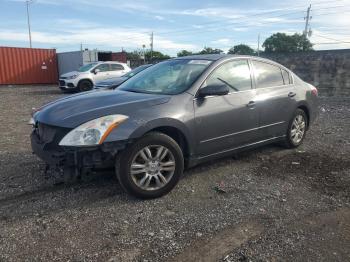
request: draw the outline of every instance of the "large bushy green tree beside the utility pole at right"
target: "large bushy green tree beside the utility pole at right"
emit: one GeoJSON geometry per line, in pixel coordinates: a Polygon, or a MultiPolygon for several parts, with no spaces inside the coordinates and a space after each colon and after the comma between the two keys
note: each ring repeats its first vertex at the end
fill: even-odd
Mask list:
{"type": "Polygon", "coordinates": [[[266,53],[305,52],[313,50],[312,46],[305,35],[285,33],[273,34],[263,43],[266,53]]]}

